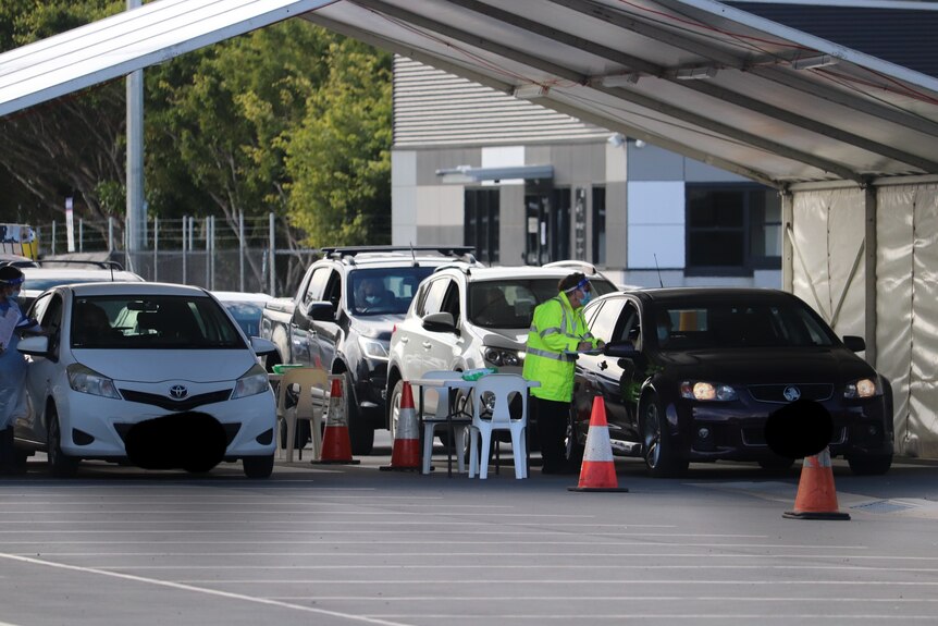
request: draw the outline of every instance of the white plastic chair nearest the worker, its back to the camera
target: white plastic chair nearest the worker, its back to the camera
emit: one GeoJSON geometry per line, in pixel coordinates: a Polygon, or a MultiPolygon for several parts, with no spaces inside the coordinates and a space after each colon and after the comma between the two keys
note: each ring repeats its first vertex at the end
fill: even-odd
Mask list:
{"type": "Polygon", "coordinates": [[[469,443],[469,478],[477,474],[480,479],[489,476],[489,451],[492,447],[492,431],[508,430],[511,432],[511,452],[515,456],[515,478],[528,478],[528,453],[526,434],[528,429],[528,384],[523,377],[517,373],[490,373],[476,381],[472,391],[472,426],[469,443]],[[508,401],[511,394],[521,395],[521,417],[511,418],[508,401]],[[492,418],[483,419],[485,412],[485,395],[494,395],[492,418]],[[479,439],[481,438],[481,451],[479,439]],[[480,454],[481,453],[481,454],[480,454]],[[484,459],[480,464],[480,456],[484,459]]]}

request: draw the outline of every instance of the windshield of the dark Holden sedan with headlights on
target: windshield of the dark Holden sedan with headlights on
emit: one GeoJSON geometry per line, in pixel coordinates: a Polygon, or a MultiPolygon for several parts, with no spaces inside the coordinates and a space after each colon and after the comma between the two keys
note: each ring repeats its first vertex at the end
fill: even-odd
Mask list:
{"type": "Polygon", "coordinates": [[[778,302],[686,302],[654,315],[665,351],[831,346],[836,335],[805,305],[778,302]]]}

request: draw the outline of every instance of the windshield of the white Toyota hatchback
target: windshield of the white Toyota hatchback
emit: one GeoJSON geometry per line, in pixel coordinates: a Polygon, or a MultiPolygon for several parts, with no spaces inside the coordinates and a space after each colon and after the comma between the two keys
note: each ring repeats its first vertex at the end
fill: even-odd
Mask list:
{"type": "Polygon", "coordinates": [[[245,343],[210,297],[124,295],[76,298],[72,347],[239,349],[245,343]]]}

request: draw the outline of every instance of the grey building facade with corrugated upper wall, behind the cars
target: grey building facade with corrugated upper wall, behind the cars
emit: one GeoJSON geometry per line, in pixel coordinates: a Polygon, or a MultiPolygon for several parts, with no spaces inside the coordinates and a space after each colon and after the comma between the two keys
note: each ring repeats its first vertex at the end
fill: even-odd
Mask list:
{"type": "Polygon", "coordinates": [[[392,242],[622,284],[781,285],[774,189],[397,57],[392,242]]]}

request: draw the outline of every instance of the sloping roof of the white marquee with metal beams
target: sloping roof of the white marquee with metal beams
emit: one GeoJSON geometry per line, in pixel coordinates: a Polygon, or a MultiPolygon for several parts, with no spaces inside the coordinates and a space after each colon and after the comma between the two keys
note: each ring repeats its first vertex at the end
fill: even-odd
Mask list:
{"type": "Polygon", "coordinates": [[[713,0],[156,0],[0,54],[0,114],[298,14],[779,188],[938,174],[938,79],[713,0]]]}

